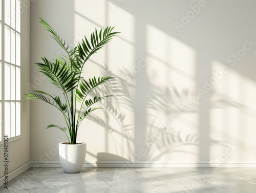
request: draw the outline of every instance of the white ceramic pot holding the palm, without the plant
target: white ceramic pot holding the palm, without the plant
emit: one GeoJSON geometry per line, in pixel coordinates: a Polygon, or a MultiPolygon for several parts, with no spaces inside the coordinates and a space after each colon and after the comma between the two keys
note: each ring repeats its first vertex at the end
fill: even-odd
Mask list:
{"type": "Polygon", "coordinates": [[[78,173],[86,159],[86,143],[78,144],[59,143],[59,160],[66,173],[78,173]]]}

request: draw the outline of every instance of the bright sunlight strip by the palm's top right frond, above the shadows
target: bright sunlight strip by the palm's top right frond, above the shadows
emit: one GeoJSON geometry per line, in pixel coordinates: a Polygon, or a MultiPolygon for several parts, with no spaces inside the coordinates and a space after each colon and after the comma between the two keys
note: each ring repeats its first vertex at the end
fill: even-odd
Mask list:
{"type": "Polygon", "coordinates": [[[119,33],[108,45],[108,66],[115,72],[118,69],[127,69],[133,72],[135,64],[135,17],[133,14],[116,6],[115,10],[108,2],[108,25],[115,26],[119,33]],[[125,20],[124,20],[125,18],[125,20]]]}

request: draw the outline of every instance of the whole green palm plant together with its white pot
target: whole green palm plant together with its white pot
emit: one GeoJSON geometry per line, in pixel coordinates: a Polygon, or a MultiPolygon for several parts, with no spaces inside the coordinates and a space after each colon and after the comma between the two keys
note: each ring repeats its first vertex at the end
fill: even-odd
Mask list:
{"type": "Polygon", "coordinates": [[[95,108],[95,103],[113,96],[92,97],[92,91],[114,78],[105,76],[86,80],[81,76],[84,63],[119,32],[113,32],[114,27],[106,27],[99,32],[95,29],[89,40],[84,36],[75,48],[69,48],[65,40],[45,20],[40,18],[40,23],[50,32],[52,38],[59,44],[65,54],[56,56],[54,60],[42,57],[42,62],[36,63],[36,65],[39,67],[39,72],[48,76],[51,83],[61,92],[59,92],[60,95],[50,95],[44,91],[33,91],[33,93],[27,94],[28,97],[25,99],[45,101],[61,112],[66,125],[50,124],[46,128],[57,127],[66,134],[68,141],[59,143],[60,163],[66,173],[78,173],[86,157],[86,143],[77,142],[76,140],[78,128],[90,113],[102,109],[95,108]],[[79,108],[77,108],[77,102],[80,103],[79,108]]]}

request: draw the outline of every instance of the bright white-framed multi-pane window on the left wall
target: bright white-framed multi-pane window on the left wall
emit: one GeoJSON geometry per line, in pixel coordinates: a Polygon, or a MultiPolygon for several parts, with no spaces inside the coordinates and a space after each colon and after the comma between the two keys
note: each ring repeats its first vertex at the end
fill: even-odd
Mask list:
{"type": "Polygon", "coordinates": [[[3,135],[20,136],[20,0],[0,0],[0,117],[3,135]]]}

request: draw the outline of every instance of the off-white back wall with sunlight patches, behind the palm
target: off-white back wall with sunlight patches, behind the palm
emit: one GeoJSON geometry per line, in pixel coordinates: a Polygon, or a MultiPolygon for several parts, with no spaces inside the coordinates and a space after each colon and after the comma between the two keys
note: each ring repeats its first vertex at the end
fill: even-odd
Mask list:
{"type": "MultiPolygon", "coordinates": [[[[84,74],[98,75],[101,67],[118,82],[112,105],[103,103],[108,111],[80,127],[86,160],[253,161],[255,44],[244,45],[256,41],[255,6],[253,0],[37,0],[31,62],[61,53],[38,17],[71,45],[95,27],[116,26],[121,33],[91,58],[84,74]]],[[[39,73],[32,65],[32,82],[34,76],[39,73]]],[[[57,92],[44,78],[35,87],[57,92]]],[[[50,106],[32,101],[31,160],[58,160],[55,146],[66,139],[57,129],[45,130],[51,123],[64,121],[50,106]]]]}

